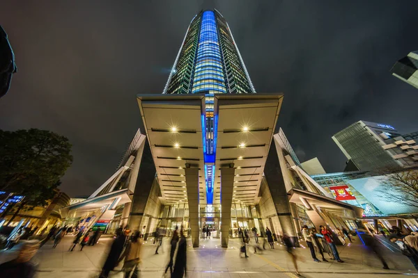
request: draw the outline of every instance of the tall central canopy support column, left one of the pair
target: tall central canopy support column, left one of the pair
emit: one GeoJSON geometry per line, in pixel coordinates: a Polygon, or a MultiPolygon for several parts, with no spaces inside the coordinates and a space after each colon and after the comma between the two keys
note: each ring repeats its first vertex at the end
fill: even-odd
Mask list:
{"type": "Polygon", "coordinates": [[[193,247],[199,247],[199,168],[185,168],[187,202],[189,203],[189,223],[193,247]]]}

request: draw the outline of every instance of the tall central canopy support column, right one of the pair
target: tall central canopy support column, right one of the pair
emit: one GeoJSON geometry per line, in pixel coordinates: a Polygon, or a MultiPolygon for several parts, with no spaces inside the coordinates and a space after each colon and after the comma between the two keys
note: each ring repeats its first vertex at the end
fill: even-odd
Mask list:
{"type": "Polygon", "coordinates": [[[233,179],[235,168],[233,164],[230,167],[221,167],[221,246],[228,247],[229,229],[231,229],[231,205],[233,196],[233,179]]]}

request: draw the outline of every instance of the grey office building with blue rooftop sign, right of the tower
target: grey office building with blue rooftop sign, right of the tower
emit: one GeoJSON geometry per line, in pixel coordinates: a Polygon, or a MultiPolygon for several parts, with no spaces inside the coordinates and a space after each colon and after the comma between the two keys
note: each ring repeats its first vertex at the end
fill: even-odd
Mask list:
{"type": "Polygon", "coordinates": [[[359,121],[332,140],[359,170],[398,170],[418,165],[418,145],[389,124],[359,121]]]}

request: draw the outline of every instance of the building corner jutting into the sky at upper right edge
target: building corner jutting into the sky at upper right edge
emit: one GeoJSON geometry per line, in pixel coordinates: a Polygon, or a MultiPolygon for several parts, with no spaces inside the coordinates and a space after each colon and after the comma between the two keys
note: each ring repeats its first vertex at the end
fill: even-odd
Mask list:
{"type": "Polygon", "coordinates": [[[408,56],[398,60],[390,72],[398,79],[418,88],[418,51],[412,51],[408,56]]]}

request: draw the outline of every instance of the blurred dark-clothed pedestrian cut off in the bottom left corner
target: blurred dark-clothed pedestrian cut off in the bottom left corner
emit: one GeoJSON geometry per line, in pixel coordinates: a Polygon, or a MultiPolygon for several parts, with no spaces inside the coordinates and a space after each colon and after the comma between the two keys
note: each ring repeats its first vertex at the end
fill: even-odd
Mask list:
{"type": "Polygon", "coordinates": [[[30,260],[35,256],[39,247],[39,240],[22,240],[17,258],[0,265],[1,277],[35,277],[36,266],[30,260]]]}

